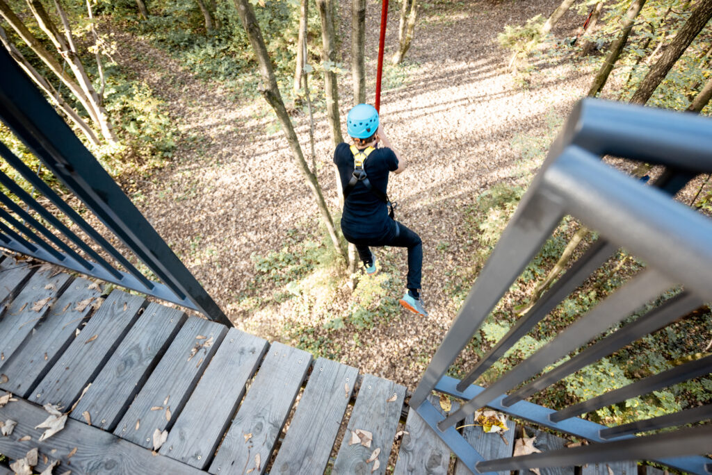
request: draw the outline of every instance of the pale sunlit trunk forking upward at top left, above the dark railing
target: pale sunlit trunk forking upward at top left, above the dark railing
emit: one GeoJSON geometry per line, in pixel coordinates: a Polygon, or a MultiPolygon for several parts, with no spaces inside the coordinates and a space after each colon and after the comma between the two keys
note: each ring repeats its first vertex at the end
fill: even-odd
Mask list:
{"type": "MultiPolygon", "coordinates": [[[[52,23],[51,18],[49,17],[47,11],[44,9],[39,0],[27,0],[27,4],[30,7],[30,10],[32,11],[32,14],[35,17],[41,30],[46,33],[47,37],[57,48],[62,57],[66,60],[67,64],[69,65],[69,68],[74,73],[74,77],[78,81],[78,84],[84,92],[84,95],[88,98],[89,105],[94,112],[96,122],[101,129],[103,137],[110,143],[117,142],[116,134],[114,133],[112,124],[111,122],[109,122],[108,119],[108,114],[106,113],[104,107],[100,105],[99,97],[96,94],[96,91],[94,90],[91,81],[89,80],[89,76],[84,70],[84,66],[81,63],[79,56],[72,48],[73,41],[68,41],[61,35],[61,33],[59,33],[58,29],[52,23]]],[[[61,5],[56,0],[55,6],[59,16],[62,19],[62,23],[65,26],[65,33],[67,35],[67,38],[71,38],[71,30],[69,28],[69,23],[67,21],[66,14],[64,13],[64,10],[62,9],[61,5]]]]}

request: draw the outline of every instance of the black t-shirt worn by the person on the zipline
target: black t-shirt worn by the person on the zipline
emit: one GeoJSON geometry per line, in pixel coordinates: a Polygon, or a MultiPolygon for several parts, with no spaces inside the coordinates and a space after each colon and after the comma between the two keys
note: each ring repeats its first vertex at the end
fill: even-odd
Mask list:
{"type": "MultiPolygon", "coordinates": [[[[334,163],[339,169],[341,184],[346,188],[354,171],[354,156],[348,144],[338,144],[334,151],[334,163]]],[[[371,186],[386,194],[388,173],[398,169],[398,159],[391,149],[375,149],[363,166],[371,186]]],[[[389,229],[391,218],[386,203],[379,200],[362,182],[356,183],[341,215],[344,233],[357,239],[380,237],[389,229]]]]}

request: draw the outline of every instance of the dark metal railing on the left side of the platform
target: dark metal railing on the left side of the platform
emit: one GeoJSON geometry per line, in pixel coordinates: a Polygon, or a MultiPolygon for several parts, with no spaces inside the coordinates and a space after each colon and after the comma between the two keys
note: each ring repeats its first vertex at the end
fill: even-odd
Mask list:
{"type": "Polygon", "coordinates": [[[4,187],[4,193],[0,194],[3,205],[0,246],[200,311],[211,320],[232,326],[197,279],[2,48],[0,71],[0,120],[161,282],[145,277],[78,210],[2,143],[0,156],[54,209],[43,206],[0,172],[0,184],[4,187]],[[84,237],[70,230],[72,226],[67,223],[73,223],[84,237]]]}

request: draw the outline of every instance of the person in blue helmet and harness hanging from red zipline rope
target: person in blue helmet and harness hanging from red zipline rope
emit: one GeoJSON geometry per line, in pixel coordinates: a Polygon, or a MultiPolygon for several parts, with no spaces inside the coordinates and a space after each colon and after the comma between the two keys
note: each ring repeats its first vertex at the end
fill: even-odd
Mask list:
{"type": "Polygon", "coordinates": [[[359,104],[349,111],[347,132],[353,145],[338,144],[334,163],[339,169],[344,190],[344,210],[341,230],[348,242],[356,245],[367,275],[377,272],[376,260],[369,246],[408,248],[408,280],[400,304],[406,309],[427,316],[420,300],[420,277],[423,266],[423,245],[420,237],[393,219],[388,201],[388,174],[405,169],[379,125],[375,107],[359,104]],[[379,147],[379,142],[383,146],[379,147]]]}

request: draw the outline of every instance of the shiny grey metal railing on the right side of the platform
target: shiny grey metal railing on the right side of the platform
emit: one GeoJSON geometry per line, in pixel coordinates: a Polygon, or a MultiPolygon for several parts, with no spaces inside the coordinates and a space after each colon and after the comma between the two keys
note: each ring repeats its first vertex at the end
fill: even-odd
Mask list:
{"type": "Polygon", "coordinates": [[[575,107],[410,401],[473,473],[640,459],[695,474],[712,473],[712,459],[701,455],[712,452],[712,424],[634,435],[709,420],[710,404],[618,427],[576,417],[707,375],[712,372],[712,356],[562,410],[524,400],[712,301],[712,222],[671,198],[691,178],[710,171],[712,120],[706,117],[591,99],[575,107]],[[646,186],[604,164],[604,155],[663,165],[666,171],[654,186],[646,186]],[[600,237],[464,378],[447,376],[461,351],[565,215],[578,218],[600,237]],[[619,247],[646,262],[642,272],[488,388],[472,384],[619,247]],[[602,333],[627,321],[634,312],[644,312],[646,304],[679,286],[684,290],[675,297],[601,338],[602,333]],[[539,375],[580,348],[585,349],[539,375]],[[443,417],[426,399],[432,390],[465,402],[443,417]],[[454,427],[485,406],[596,443],[486,461],[454,427]]]}

